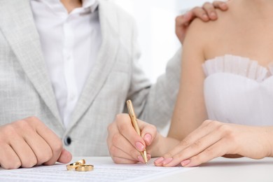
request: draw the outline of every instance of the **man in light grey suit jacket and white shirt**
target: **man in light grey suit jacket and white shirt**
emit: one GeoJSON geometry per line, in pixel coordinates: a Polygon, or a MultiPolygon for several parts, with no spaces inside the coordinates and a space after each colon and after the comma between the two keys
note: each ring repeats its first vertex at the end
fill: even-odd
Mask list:
{"type": "Polygon", "coordinates": [[[1,167],[109,155],[106,128],[127,99],[142,120],[169,120],[180,55],[151,85],[137,63],[134,21],[113,3],[1,0],[0,12],[1,167]]]}

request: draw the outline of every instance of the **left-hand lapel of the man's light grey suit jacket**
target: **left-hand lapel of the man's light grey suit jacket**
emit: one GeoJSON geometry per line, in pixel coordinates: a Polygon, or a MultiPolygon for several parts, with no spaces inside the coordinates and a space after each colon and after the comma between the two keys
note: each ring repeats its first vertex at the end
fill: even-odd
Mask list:
{"type": "MultiPolygon", "coordinates": [[[[13,49],[22,69],[53,115],[62,124],[45,65],[29,0],[0,3],[0,29],[13,49]]],[[[29,98],[31,99],[31,98],[29,98]]]]}

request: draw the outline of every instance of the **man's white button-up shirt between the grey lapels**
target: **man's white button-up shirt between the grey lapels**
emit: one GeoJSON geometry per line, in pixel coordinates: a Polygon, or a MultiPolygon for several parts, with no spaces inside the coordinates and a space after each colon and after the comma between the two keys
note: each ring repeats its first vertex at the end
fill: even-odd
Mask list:
{"type": "Polygon", "coordinates": [[[31,0],[41,48],[64,126],[97,59],[102,35],[97,0],[68,13],[58,0],[31,0]]]}

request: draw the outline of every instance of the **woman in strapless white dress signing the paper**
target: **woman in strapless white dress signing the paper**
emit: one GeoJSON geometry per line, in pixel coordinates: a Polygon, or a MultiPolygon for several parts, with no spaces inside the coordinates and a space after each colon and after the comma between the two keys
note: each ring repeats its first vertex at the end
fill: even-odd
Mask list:
{"type": "MultiPolygon", "coordinates": [[[[197,19],[188,29],[168,136],[139,121],[141,137],[120,132],[132,144],[120,140],[120,158],[143,161],[137,144],[144,144],[138,151],[163,156],[155,165],[165,167],[193,167],[219,156],[273,157],[273,1],[231,0],[228,7],[217,12],[217,21],[197,19]]],[[[120,131],[128,120],[118,116],[120,131]]]]}

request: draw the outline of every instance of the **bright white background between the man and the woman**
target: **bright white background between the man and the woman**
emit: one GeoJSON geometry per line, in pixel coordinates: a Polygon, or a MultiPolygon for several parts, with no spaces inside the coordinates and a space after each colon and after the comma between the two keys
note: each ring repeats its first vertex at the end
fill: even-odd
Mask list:
{"type": "MultiPolygon", "coordinates": [[[[111,0],[130,13],[139,31],[139,60],[148,78],[154,83],[165,72],[167,61],[181,44],[175,35],[175,18],[207,0],[111,0]]],[[[211,0],[209,0],[211,1],[211,0]]]]}

